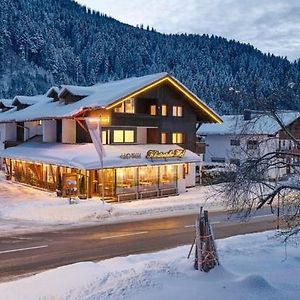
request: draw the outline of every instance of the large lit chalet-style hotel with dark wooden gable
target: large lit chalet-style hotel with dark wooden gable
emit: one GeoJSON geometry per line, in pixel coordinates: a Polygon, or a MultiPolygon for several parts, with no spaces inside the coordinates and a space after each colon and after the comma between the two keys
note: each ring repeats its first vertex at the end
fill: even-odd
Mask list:
{"type": "MultiPolygon", "coordinates": [[[[101,196],[102,178],[106,198],[180,193],[195,185],[195,167],[201,161],[194,153],[196,125],[222,122],[167,73],[90,87],[52,87],[43,97],[22,110],[0,113],[0,123],[31,125],[30,129],[36,128],[36,122],[41,124],[39,142],[30,140],[5,149],[1,156],[7,177],[59,189],[63,195],[73,182],[77,194],[101,196]],[[101,123],[106,152],[103,173],[87,117],[101,123]]],[[[18,101],[25,104],[24,99],[18,101]]],[[[17,131],[16,136],[21,140],[17,131]]]]}

